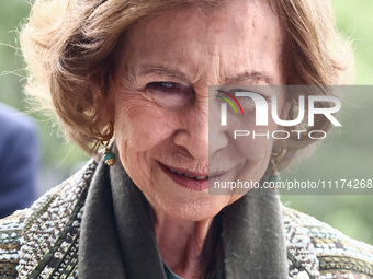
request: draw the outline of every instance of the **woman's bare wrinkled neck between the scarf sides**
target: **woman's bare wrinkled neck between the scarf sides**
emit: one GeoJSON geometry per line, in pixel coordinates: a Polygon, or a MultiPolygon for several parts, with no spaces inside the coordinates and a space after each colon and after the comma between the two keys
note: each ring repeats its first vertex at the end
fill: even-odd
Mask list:
{"type": "Polygon", "coordinates": [[[155,216],[155,232],[163,261],[182,278],[201,278],[215,247],[213,218],[195,222],[162,212],[155,216]]]}

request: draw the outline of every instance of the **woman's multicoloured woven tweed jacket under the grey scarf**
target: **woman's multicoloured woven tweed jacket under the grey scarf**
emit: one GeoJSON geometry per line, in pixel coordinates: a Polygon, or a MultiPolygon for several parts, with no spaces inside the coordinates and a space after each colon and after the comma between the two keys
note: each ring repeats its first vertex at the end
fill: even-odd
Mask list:
{"type": "MultiPolygon", "coordinates": [[[[0,221],[0,278],[78,278],[87,191],[97,164],[0,221]]],[[[289,278],[373,278],[373,247],[304,213],[282,208],[289,278]]]]}

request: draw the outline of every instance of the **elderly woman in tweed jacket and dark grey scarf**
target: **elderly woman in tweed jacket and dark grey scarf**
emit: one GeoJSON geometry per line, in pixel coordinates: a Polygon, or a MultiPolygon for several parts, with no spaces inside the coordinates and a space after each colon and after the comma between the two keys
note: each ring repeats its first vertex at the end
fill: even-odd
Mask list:
{"type": "MultiPolygon", "coordinates": [[[[331,14],[325,0],[36,1],[21,34],[29,92],[104,154],[2,220],[2,278],[372,278],[371,246],[275,190],[208,193],[273,181],[313,142],[242,144],[208,108],[233,85],[343,82],[350,48],[331,14]]],[[[298,96],[273,94],[293,119],[298,96]]]]}

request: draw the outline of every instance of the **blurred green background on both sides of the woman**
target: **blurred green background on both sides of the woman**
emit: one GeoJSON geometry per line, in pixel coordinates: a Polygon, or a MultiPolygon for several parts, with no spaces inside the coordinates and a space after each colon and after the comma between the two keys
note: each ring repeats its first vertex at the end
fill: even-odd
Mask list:
{"type": "MultiPolygon", "coordinates": [[[[373,1],[335,0],[338,30],[353,40],[355,84],[373,84],[373,1]]],[[[22,86],[26,72],[19,50],[18,31],[30,5],[25,0],[0,2],[0,102],[27,111],[22,86]]],[[[324,140],[316,152],[297,161],[283,178],[373,178],[373,94],[346,95],[342,129],[324,140]],[[353,131],[353,132],[352,132],[353,131]]],[[[42,114],[32,114],[41,127],[43,163],[39,194],[72,174],[84,155],[63,138],[61,131],[42,114]]],[[[1,132],[1,131],[0,131],[1,132]]],[[[286,206],[309,213],[354,239],[373,244],[373,196],[287,195],[286,206]]]]}

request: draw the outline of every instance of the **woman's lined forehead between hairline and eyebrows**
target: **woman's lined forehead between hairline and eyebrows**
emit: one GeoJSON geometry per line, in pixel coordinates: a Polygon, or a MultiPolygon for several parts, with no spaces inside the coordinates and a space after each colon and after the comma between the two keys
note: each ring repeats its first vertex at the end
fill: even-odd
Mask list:
{"type": "Polygon", "coordinates": [[[168,11],[136,24],[126,43],[125,60],[137,68],[172,63],[195,77],[206,67],[229,75],[224,71],[231,68],[237,72],[274,70],[282,35],[267,3],[235,1],[217,8],[190,5],[168,11]]]}

